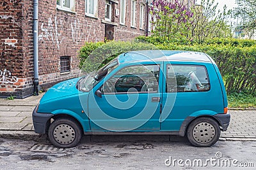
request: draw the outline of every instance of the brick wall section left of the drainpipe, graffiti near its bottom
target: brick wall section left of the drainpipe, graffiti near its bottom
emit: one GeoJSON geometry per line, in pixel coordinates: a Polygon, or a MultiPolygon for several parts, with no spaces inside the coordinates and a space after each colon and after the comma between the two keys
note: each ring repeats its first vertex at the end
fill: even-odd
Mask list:
{"type": "Polygon", "coordinates": [[[10,93],[21,97],[22,91],[29,86],[27,62],[33,59],[32,11],[29,1],[0,2],[0,95],[3,97],[10,93]]]}

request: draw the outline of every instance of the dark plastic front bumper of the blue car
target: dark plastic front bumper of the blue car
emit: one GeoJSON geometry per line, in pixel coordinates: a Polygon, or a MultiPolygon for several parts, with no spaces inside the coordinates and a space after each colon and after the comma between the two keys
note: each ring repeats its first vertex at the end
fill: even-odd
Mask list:
{"type": "Polygon", "coordinates": [[[38,134],[45,134],[51,123],[51,118],[53,114],[36,112],[37,107],[38,105],[35,107],[32,114],[35,132],[38,134]]]}

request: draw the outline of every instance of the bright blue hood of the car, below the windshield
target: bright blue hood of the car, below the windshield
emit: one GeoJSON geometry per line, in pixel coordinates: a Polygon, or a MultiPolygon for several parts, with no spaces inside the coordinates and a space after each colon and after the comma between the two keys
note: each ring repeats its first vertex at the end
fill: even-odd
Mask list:
{"type": "Polygon", "coordinates": [[[69,79],[67,81],[59,82],[48,89],[45,95],[40,100],[40,104],[49,100],[56,100],[58,98],[64,98],[72,95],[78,95],[79,91],[76,88],[76,83],[79,78],[69,79]]]}

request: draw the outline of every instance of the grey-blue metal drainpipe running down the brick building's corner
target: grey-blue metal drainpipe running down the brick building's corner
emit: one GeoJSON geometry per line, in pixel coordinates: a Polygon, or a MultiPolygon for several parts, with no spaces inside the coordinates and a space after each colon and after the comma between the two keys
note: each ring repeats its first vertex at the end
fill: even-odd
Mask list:
{"type": "Polygon", "coordinates": [[[34,95],[38,95],[38,0],[33,7],[34,95]]]}

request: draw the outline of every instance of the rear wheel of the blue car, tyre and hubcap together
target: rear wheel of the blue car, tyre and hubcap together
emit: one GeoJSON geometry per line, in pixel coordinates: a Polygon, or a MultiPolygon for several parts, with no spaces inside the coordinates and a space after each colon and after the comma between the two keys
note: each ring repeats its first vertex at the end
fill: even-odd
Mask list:
{"type": "Polygon", "coordinates": [[[193,146],[212,146],[220,138],[220,125],[212,118],[197,118],[189,124],[187,137],[193,146]]]}

